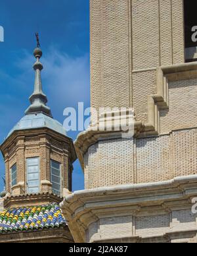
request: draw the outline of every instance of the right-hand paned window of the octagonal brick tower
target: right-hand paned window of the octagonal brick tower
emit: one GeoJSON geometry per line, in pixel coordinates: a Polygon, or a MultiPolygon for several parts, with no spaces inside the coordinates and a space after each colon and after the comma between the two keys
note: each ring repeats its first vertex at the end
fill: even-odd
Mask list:
{"type": "Polygon", "coordinates": [[[51,183],[52,191],[55,195],[61,195],[62,191],[62,164],[51,159],[51,183]],[[59,179],[59,181],[58,181],[59,179]]]}

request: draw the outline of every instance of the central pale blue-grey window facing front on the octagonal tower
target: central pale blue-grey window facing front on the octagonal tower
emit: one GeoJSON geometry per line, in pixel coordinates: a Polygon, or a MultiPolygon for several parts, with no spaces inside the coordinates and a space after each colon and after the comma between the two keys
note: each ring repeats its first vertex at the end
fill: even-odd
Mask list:
{"type": "Polygon", "coordinates": [[[40,166],[39,157],[26,158],[27,193],[40,192],[40,166]],[[32,160],[32,163],[29,162],[32,160]],[[34,160],[34,162],[33,162],[34,160]],[[37,160],[37,162],[35,161],[37,160]],[[36,168],[37,167],[37,168],[36,168]],[[33,170],[34,169],[34,170],[33,170]],[[36,170],[37,169],[37,170],[36,170]],[[30,178],[31,177],[31,178],[30,178]],[[32,183],[32,185],[30,185],[32,183]],[[37,185],[36,185],[37,183],[37,185]]]}

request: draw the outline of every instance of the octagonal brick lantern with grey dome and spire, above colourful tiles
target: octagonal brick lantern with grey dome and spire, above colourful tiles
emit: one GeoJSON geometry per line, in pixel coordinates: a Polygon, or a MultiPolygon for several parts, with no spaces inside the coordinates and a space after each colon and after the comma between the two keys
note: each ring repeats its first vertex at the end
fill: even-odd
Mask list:
{"type": "Polygon", "coordinates": [[[47,96],[41,82],[41,49],[36,48],[33,55],[36,62],[31,105],[1,144],[6,166],[5,207],[59,203],[64,193],[72,190],[74,145],[46,105],[47,96]]]}

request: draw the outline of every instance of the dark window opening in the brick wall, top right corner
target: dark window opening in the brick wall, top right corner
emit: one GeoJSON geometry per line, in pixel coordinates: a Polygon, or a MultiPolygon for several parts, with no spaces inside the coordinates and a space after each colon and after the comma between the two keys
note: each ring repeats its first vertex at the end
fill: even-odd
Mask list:
{"type": "Polygon", "coordinates": [[[197,1],[184,1],[185,61],[197,61],[197,1]]]}

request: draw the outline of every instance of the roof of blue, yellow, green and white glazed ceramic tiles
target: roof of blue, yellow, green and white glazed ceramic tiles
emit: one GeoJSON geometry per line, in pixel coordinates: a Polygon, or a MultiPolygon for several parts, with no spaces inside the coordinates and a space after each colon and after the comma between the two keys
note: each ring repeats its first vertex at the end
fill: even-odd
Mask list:
{"type": "Polygon", "coordinates": [[[0,233],[58,228],[66,220],[56,203],[39,207],[20,207],[0,212],[0,233]]]}

